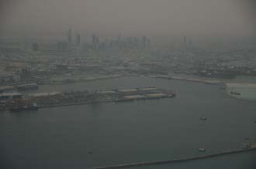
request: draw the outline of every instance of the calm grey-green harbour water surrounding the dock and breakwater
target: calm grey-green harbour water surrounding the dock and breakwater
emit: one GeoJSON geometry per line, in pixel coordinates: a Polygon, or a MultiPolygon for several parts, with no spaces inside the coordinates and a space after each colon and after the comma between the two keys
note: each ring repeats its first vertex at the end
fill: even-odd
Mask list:
{"type": "MultiPolygon", "coordinates": [[[[171,160],[256,143],[256,104],[225,96],[218,86],[128,77],[40,86],[40,91],[144,86],[175,90],[177,97],[0,113],[0,168],[88,168],[171,160]],[[206,152],[200,153],[199,147],[206,152]]],[[[255,159],[251,152],[147,168],[255,168],[255,159]]]]}

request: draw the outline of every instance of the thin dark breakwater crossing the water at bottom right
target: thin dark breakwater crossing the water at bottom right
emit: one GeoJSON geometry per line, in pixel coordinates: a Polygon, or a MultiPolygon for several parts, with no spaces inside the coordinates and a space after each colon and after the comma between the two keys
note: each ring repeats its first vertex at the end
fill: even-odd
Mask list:
{"type": "Polygon", "coordinates": [[[103,166],[103,167],[92,167],[89,169],[117,169],[117,168],[130,168],[130,167],[141,167],[141,166],[161,165],[161,164],[173,164],[173,163],[178,163],[178,162],[206,159],[206,158],[210,158],[210,157],[220,157],[220,156],[224,156],[224,155],[228,155],[228,154],[238,154],[238,153],[243,153],[243,152],[252,151],[252,150],[256,150],[256,145],[251,146],[246,149],[224,151],[219,154],[206,154],[206,155],[202,155],[202,156],[179,158],[179,159],[174,159],[174,160],[170,160],[170,161],[144,161],[144,162],[139,162],[139,163],[116,164],[116,165],[109,165],[109,166],[103,166]]]}

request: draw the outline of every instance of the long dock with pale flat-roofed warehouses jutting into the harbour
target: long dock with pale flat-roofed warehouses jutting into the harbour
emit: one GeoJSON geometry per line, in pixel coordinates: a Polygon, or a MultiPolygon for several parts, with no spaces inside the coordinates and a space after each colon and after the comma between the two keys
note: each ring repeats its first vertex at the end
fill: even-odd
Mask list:
{"type": "Polygon", "coordinates": [[[2,94],[2,97],[0,97],[0,111],[10,110],[13,106],[28,106],[27,103],[36,103],[39,108],[44,108],[111,102],[120,103],[135,100],[157,100],[175,96],[175,93],[171,90],[159,89],[154,86],[132,89],[95,90],[94,92],[84,90],[63,93],[33,93],[16,100],[12,99],[13,96],[6,97],[2,94]]]}

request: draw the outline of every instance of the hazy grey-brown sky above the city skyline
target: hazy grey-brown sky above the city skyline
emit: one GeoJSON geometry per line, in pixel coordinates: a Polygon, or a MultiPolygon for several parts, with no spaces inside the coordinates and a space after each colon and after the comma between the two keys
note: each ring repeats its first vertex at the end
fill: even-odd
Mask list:
{"type": "MultiPolygon", "coordinates": [[[[1,1],[1,0],[0,0],[1,1]]],[[[255,32],[247,0],[5,0],[2,32],[244,36],[255,32]]],[[[251,7],[251,8],[250,8],[251,7]]]]}

